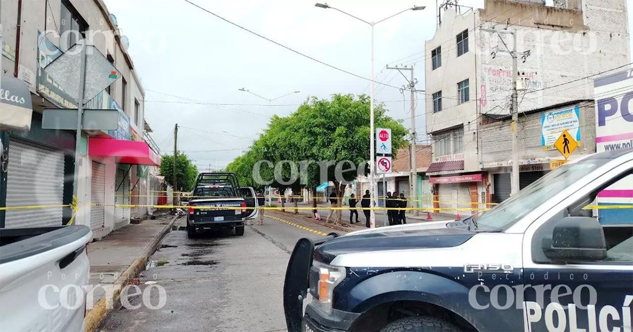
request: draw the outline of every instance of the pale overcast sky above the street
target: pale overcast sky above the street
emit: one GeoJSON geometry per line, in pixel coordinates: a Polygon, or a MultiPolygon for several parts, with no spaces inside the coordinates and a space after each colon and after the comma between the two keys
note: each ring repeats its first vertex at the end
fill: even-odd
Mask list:
{"type": "MultiPolygon", "coordinates": [[[[145,116],[154,141],[161,153],[173,151],[173,126],[178,123],[179,150],[201,171],[209,165],[226,166],[265,128],[270,114],[287,115],[310,95],[369,94],[367,80],[304,58],[184,0],[105,1],[130,40],[129,51],[146,89],[145,116]],[[265,99],[300,92],[273,101],[269,108],[268,101],[240,88],[265,99]]],[[[370,77],[370,27],[335,10],[316,8],[315,0],[192,1],[312,58],[370,77]]],[[[483,3],[460,0],[475,8],[483,3]]],[[[401,87],[404,77],[385,70],[385,65],[415,65],[417,89],[424,89],[424,42],[434,35],[435,1],[328,4],[366,21],[381,20],[414,4],[427,6],[375,25],[374,39],[376,80],[401,87]]],[[[424,113],[424,95],[417,97],[416,115],[424,113]]],[[[404,119],[411,127],[408,92],[376,85],[375,98],[385,102],[393,118],[404,119]]],[[[424,116],[416,120],[418,133],[425,132],[424,116]]]]}

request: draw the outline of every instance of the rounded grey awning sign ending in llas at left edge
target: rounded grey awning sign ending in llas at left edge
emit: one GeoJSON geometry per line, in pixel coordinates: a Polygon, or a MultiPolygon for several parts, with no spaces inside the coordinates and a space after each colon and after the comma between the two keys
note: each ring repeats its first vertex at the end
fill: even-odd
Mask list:
{"type": "Polygon", "coordinates": [[[31,92],[18,78],[3,76],[1,80],[0,130],[28,132],[33,115],[31,92]]]}

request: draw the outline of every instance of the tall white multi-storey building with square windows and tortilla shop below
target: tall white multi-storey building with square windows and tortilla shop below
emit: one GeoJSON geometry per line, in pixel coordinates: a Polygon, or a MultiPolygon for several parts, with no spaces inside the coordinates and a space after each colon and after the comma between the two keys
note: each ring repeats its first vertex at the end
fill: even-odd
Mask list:
{"type": "MultiPolygon", "coordinates": [[[[433,140],[427,174],[437,200],[446,201],[437,207],[456,214],[485,204],[491,194],[494,179],[489,181],[482,162],[502,144],[484,146],[482,126],[511,114],[507,51],[515,40],[518,72],[528,78],[518,92],[519,114],[592,99],[592,75],[630,62],[626,1],[544,3],[486,0],[483,9],[462,10],[448,1],[439,9],[441,23],[425,45],[426,126],[433,140]]],[[[503,140],[511,140],[510,134],[503,140]]],[[[505,153],[503,160],[510,160],[510,151],[505,153]]],[[[558,157],[551,149],[545,153],[558,157]]]]}

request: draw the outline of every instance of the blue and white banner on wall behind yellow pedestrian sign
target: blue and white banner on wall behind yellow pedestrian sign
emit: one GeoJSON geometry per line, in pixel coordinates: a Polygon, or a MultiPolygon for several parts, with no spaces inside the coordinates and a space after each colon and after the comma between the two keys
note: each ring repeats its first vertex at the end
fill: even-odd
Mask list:
{"type": "Polygon", "coordinates": [[[565,130],[577,142],[580,142],[580,109],[578,106],[563,111],[541,114],[541,144],[543,149],[555,150],[553,145],[565,130]]]}

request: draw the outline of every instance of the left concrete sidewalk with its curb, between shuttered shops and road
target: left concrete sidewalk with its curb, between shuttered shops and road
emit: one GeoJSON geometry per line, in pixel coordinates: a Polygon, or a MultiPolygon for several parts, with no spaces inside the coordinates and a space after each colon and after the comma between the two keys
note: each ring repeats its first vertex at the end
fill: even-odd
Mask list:
{"type": "Polygon", "coordinates": [[[88,243],[92,289],[86,298],[85,331],[92,331],[108,314],[118,299],[118,288],[128,285],[146,268],[147,258],[171,230],[175,217],[168,211],[156,211],[154,216],[154,220],[128,224],[101,241],[88,243]]]}

